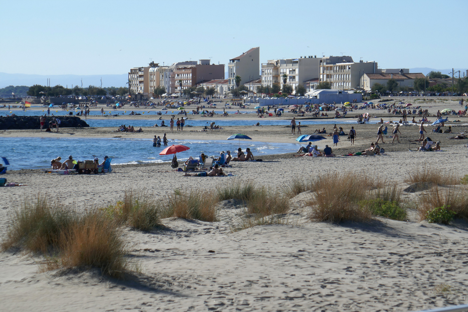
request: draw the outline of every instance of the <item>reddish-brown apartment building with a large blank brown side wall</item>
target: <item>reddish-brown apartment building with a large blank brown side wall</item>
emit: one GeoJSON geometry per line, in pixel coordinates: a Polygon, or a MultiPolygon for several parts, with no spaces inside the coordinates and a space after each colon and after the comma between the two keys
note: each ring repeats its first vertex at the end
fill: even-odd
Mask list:
{"type": "Polygon", "coordinates": [[[175,65],[170,73],[170,93],[180,93],[183,89],[194,87],[197,83],[210,80],[224,79],[224,64],[210,64],[209,59],[200,59],[199,64],[180,66],[180,63],[175,65]],[[180,87],[179,80],[182,80],[180,87]]]}

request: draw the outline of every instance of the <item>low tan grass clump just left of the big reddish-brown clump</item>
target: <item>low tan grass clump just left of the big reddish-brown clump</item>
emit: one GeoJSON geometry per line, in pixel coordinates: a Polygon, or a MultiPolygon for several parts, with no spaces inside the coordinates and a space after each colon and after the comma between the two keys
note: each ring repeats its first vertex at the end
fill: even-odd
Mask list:
{"type": "Polygon", "coordinates": [[[281,195],[278,188],[258,188],[247,203],[247,213],[256,213],[262,217],[288,210],[289,200],[281,195]]]}

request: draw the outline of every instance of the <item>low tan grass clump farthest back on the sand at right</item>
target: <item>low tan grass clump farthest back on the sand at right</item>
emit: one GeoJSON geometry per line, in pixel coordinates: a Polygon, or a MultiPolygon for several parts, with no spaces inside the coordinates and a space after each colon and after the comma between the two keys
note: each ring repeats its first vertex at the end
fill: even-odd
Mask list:
{"type": "Polygon", "coordinates": [[[408,177],[404,180],[406,183],[430,182],[435,185],[458,185],[460,177],[453,172],[444,173],[439,169],[426,167],[414,168],[408,171],[408,177]]]}

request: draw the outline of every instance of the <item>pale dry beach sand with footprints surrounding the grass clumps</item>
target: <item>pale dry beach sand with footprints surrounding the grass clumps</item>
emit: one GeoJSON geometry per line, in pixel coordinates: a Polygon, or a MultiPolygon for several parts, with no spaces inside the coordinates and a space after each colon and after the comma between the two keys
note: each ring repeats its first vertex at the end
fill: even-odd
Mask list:
{"type": "MultiPolygon", "coordinates": [[[[440,108],[460,107],[455,101],[433,102],[422,104],[423,109],[428,108],[432,114],[440,108]]],[[[375,114],[384,120],[390,117],[378,110],[371,112],[375,114]]],[[[255,115],[250,114],[249,119],[255,119],[255,115]]],[[[449,117],[450,121],[455,119],[461,122],[450,124],[461,126],[453,127],[453,132],[468,130],[468,118],[449,117]]],[[[349,131],[351,125],[358,132],[356,145],[351,146],[342,137],[335,153],[358,152],[375,141],[378,125],[342,126],[349,131]]],[[[313,127],[330,131],[332,125],[313,127]]],[[[294,143],[297,138],[284,126],[223,127],[213,132],[197,132],[199,128],[187,128],[187,132],[184,129],[183,135],[171,133],[168,138],[226,139],[238,132],[260,142],[294,143]]],[[[310,129],[310,126],[303,128],[302,132],[311,134],[310,129]]],[[[1,189],[0,234],[7,232],[15,207],[25,197],[36,196],[38,192],[84,210],[115,203],[131,187],[149,189],[157,197],[177,188],[214,190],[235,179],[285,187],[293,177],[314,176],[330,170],[366,171],[376,179],[393,179],[400,186],[408,185],[403,182],[408,171],[424,165],[456,171],[461,176],[468,174],[468,149],[464,147],[468,140],[448,140],[449,134],[429,134],[433,140],[442,142],[446,152],[408,152],[409,147],[417,149],[417,144],[408,142],[418,138],[417,127],[400,129],[403,143],[380,144],[386,150],[384,156],[262,155],[263,162],[233,163],[226,172],[234,177],[189,178],[168,164],[114,166],[111,174],[96,176],[10,171],[5,175],[8,181],[28,186],[1,189]]],[[[114,130],[62,129],[58,134],[12,130],[0,131],[0,136],[151,138],[161,135],[160,128],[151,127],[144,128],[143,133],[114,130]]],[[[331,146],[332,140],[327,138],[324,144],[331,146]]],[[[385,140],[391,142],[391,138],[385,140]]],[[[416,202],[421,194],[403,193],[402,196],[408,202],[416,202]]],[[[1,310],[415,311],[467,303],[467,223],[458,220],[453,225],[428,224],[420,222],[412,210],[407,221],[376,218],[370,223],[312,222],[307,218],[309,209],[304,204],[309,196],[305,192],[290,200],[291,209],[283,216],[287,220],[284,225],[262,225],[232,232],[242,205],[227,201],[219,204],[217,222],[168,218],[162,220],[164,229],[128,230],[124,232],[125,238],[132,242],[131,254],[142,268],[141,276],[128,281],[110,279],[95,271],[42,272],[38,265],[42,261],[40,257],[3,252],[0,254],[1,310]],[[450,291],[438,293],[439,285],[450,286],[450,291]]]]}

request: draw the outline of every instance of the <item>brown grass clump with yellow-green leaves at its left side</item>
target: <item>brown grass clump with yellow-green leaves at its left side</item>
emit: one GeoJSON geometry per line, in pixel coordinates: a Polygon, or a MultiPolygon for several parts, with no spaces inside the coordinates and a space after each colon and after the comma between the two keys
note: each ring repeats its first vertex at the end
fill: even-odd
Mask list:
{"type": "Polygon", "coordinates": [[[117,222],[133,229],[149,231],[160,226],[161,202],[146,190],[126,189],[124,200],[104,210],[117,222]]]}

